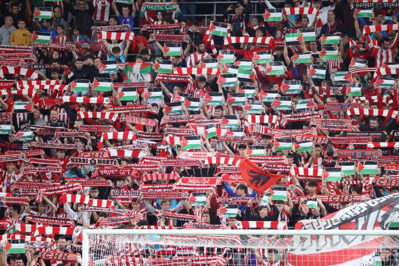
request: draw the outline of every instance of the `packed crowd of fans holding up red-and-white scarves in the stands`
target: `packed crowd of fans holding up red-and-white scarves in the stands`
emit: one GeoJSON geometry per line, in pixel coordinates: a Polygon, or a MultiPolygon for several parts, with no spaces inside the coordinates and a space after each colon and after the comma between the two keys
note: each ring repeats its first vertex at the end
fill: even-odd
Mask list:
{"type": "MultiPolygon", "coordinates": [[[[45,255],[80,254],[85,228],[284,230],[399,192],[399,9],[388,2],[366,17],[356,0],[238,0],[217,5],[211,21],[195,16],[200,2],[171,0],[174,8],[163,3],[157,10],[144,8],[153,4],[146,0],[1,0],[0,265],[78,265],[75,257],[45,255]],[[281,20],[264,21],[252,14],[255,4],[261,13],[317,13],[285,11],[281,20]],[[38,18],[38,10],[51,18],[38,18]],[[212,34],[212,26],[227,36],[212,34]],[[288,44],[286,35],[304,28],[315,38],[288,44]],[[46,33],[49,43],[36,40],[46,33]],[[338,42],[325,43],[326,36],[338,42]],[[171,43],[179,55],[167,55],[171,43]],[[338,56],[323,58],[330,48],[338,56]],[[226,51],[234,52],[231,63],[219,62],[226,51]],[[257,62],[264,51],[272,62],[257,62]],[[307,53],[310,61],[297,61],[307,53]],[[110,62],[115,72],[104,71],[110,62]],[[270,75],[276,66],[282,72],[270,75]],[[316,78],[318,67],[325,75],[316,78]],[[231,76],[233,85],[225,85],[231,76]],[[106,88],[96,89],[99,82],[106,88]],[[245,102],[234,104],[239,97],[245,102]],[[284,100],[288,106],[278,108],[284,100]],[[284,139],[288,148],[281,149],[284,139]],[[245,158],[281,178],[257,192],[238,167],[245,158]],[[362,172],[371,161],[376,173],[362,172]],[[323,169],[353,162],[352,173],[326,181],[323,169]],[[273,197],[275,188],[287,191],[282,200],[273,197]],[[224,215],[224,204],[236,214],[224,215]],[[73,230],[57,233],[60,226],[73,230]],[[21,235],[38,239],[19,237],[26,252],[9,254],[21,235]]],[[[179,257],[162,245],[136,248],[126,256],[149,265],[174,265],[179,257]]],[[[208,265],[255,266],[287,265],[285,254],[196,248],[191,255],[222,258],[208,265]]],[[[397,265],[396,250],[379,258],[397,265]]]]}

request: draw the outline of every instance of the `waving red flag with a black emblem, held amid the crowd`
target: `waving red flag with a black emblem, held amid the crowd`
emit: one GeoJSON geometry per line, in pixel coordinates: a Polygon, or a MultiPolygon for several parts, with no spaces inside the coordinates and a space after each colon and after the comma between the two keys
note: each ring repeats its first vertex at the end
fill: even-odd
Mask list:
{"type": "Polygon", "coordinates": [[[258,193],[263,193],[284,176],[267,173],[248,159],[242,160],[238,168],[248,187],[258,193]]]}

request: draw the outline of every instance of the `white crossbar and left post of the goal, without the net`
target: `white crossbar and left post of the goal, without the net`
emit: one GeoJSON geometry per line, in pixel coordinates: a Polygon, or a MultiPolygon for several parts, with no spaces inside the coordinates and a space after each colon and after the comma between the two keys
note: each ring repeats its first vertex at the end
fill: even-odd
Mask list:
{"type": "MultiPolygon", "coordinates": [[[[89,236],[92,235],[186,235],[186,236],[399,236],[399,230],[200,230],[200,229],[171,229],[171,230],[140,230],[140,229],[85,229],[82,231],[82,263],[88,266],[89,236]]],[[[399,247],[398,247],[399,248],[399,247]]]]}

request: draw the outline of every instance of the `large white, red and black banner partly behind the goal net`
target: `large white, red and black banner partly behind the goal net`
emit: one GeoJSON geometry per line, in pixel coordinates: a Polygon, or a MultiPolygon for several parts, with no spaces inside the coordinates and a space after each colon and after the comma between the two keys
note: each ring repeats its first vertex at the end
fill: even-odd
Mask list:
{"type": "MultiPolygon", "coordinates": [[[[399,193],[396,193],[347,207],[321,219],[299,221],[295,229],[386,230],[399,217],[398,208],[399,193]]],[[[300,266],[303,262],[308,266],[326,265],[326,262],[329,266],[373,265],[378,243],[383,240],[378,236],[298,236],[292,240],[295,249],[290,250],[287,261],[290,266],[300,266]],[[375,248],[369,248],[368,244],[375,248]]]]}

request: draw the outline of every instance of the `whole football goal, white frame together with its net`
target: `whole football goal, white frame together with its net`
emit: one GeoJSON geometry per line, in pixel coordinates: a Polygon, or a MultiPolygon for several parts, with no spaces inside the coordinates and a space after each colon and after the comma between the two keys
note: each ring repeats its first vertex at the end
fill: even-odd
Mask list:
{"type": "Polygon", "coordinates": [[[378,266],[399,249],[398,230],[94,229],[82,237],[83,266],[234,265],[234,256],[291,266],[378,266]]]}

